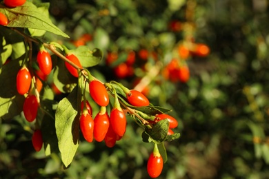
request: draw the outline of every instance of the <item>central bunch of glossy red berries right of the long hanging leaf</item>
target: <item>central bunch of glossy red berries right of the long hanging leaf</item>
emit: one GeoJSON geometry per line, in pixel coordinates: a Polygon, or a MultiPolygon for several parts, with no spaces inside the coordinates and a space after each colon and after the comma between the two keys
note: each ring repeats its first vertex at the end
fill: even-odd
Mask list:
{"type": "MultiPolygon", "coordinates": [[[[134,89],[126,89],[126,100],[130,105],[135,107],[143,107],[150,105],[148,98],[141,92],[134,89]]],[[[117,92],[109,84],[103,84],[96,79],[92,79],[89,82],[90,96],[100,106],[100,111],[92,119],[92,107],[84,98],[81,101],[81,117],[80,117],[80,129],[84,138],[88,142],[92,142],[93,139],[101,142],[105,140],[108,147],[113,147],[117,140],[120,140],[126,132],[126,114],[119,103],[117,92]],[[106,86],[110,86],[110,89],[106,89],[106,86]],[[109,104],[108,91],[114,94],[114,104],[110,111],[110,116],[106,110],[109,104]]]]}

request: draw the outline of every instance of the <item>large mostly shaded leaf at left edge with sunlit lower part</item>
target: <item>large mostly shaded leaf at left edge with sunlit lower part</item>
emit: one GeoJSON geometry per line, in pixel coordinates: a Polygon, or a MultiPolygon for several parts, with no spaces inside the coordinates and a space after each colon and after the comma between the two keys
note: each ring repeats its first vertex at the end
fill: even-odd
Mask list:
{"type": "Polygon", "coordinates": [[[17,116],[23,109],[25,98],[18,94],[16,87],[19,69],[19,60],[10,61],[0,69],[0,117],[3,119],[17,116]]]}

